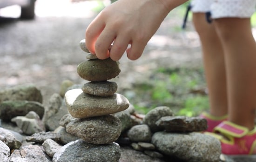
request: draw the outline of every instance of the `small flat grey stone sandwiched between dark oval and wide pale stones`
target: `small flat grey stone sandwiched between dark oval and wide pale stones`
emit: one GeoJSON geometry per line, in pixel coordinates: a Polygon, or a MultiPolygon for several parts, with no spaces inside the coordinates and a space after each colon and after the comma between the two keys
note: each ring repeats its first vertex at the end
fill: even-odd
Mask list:
{"type": "Polygon", "coordinates": [[[117,90],[117,84],[114,81],[91,81],[85,83],[82,87],[84,93],[95,96],[112,96],[117,90]]]}

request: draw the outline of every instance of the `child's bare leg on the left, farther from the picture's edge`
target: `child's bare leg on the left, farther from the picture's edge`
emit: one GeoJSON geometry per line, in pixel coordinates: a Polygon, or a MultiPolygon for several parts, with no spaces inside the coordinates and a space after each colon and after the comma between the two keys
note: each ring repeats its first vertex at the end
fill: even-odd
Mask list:
{"type": "Polygon", "coordinates": [[[210,114],[216,117],[228,113],[226,70],[222,45],[213,24],[205,19],[205,13],[193,13],[203,53],[203,64],[209,89],[210,114]]]}

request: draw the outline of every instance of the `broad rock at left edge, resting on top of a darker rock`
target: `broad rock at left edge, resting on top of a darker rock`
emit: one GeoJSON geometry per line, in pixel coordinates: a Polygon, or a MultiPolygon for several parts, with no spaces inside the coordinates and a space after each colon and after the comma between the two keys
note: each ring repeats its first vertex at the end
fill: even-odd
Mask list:
{"type": "Polygon", "coordinates": [[[6,100],[29,100],[42,103],[43,98],[37,87],[27,84],[0,90],[0,103],[6,100]]]}

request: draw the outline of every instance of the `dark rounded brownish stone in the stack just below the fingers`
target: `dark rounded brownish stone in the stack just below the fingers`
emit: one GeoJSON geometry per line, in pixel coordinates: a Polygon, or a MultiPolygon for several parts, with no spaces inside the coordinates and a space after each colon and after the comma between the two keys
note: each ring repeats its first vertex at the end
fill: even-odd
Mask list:
{"type": "Polygon", "coordinates": [[[115,78],[120,71],[119,62],[111,58],[87,60],[77,67],[78,75],[87,81],[107,81],[115,78]]]}

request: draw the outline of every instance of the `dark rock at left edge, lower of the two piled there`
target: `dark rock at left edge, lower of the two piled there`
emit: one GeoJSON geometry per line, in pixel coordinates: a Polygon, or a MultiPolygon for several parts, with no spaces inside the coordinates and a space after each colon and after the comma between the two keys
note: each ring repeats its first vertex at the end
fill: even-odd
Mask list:
{"type": "Polygon", "coordinates": [[[0,104],[0,118],[3,121],[10,121],[16,116],[25,116],[31,111],[36,112],[42,118],[44,106],[39,102],[27,100],[8,100],[0,104]]]}

